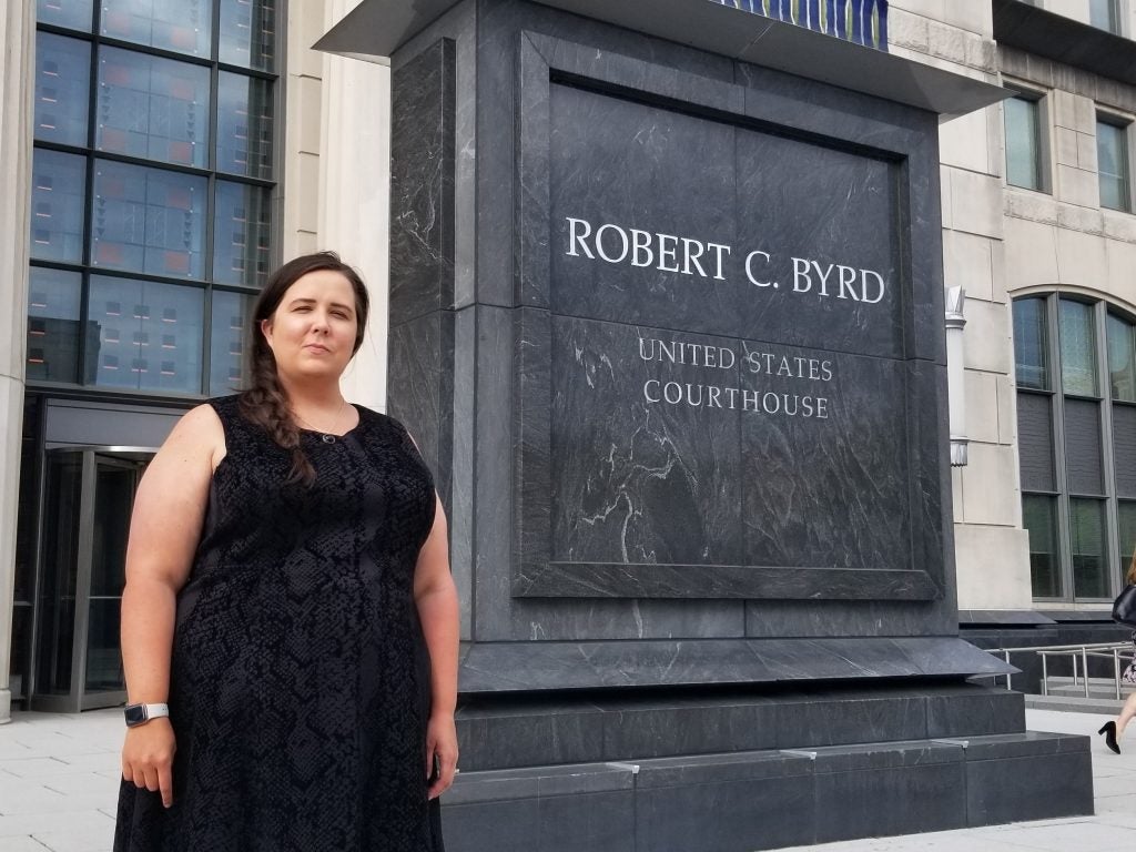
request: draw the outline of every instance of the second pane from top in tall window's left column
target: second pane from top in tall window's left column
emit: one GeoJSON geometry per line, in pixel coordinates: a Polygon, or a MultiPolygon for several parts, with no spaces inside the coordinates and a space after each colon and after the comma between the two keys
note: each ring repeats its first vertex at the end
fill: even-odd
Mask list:
{"type": "Polygon", "coordinates": [[[91,45],[52,33],[35,34],[35,139],[86,144],[91,45]]]}

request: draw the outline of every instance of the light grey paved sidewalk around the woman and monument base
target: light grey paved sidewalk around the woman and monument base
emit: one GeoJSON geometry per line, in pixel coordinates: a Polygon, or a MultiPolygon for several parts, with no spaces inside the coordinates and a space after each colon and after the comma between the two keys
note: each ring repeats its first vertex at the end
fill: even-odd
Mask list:
{"type": "MultiPolygon", "coordinates": [[[[815,852],[1136,849],[1136,735],[1128,738],[1126,753],[1118,757],[1108,751],[1095,732],[1109,718],[1096,713],[1026,710],[1031,730],[1093,735],[1094,817],[845,841],[808,849],[815,852]]],[[[17,713],[10,725],[0,726],[0,850],[109,852],[115,830],[122,736],[119,710],[81,716],[17,713]]],[[[794,846],[786,852],[803,849],[794,846]]]]}

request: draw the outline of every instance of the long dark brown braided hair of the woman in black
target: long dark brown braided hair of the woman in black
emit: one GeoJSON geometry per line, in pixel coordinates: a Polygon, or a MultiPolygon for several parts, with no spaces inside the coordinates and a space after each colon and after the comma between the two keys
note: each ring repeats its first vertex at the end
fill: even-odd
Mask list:
{"type": "Polygon", "coordinates": [[[289,482],[302,482],[310,485],[316,479],[316,470],[300,445],[300,428],[292,418],[289,408],[287,393],[281,386],[276,371],[276,358],[268,346],[260,324],[270,319],[276,308],[284,299],[289,287],[308,273],[321,270],[340,273],[351,284],[356,299],[356,342],[351,349],[353,356],[362,345],[364,329],[367,327],[367,314],[370,310],[370,299],[367,286],[359,273],[340,260],[333,251],[320,251],[315,254],[303,254],[284,264],[268,276],[268,283],[260,292],[257,304],[252,309],[250,321],[249,348],[249,383],[241,393],[241,414],[245,419],[261,426],[285,450],[292,452],[292,471],[289,482]]]}

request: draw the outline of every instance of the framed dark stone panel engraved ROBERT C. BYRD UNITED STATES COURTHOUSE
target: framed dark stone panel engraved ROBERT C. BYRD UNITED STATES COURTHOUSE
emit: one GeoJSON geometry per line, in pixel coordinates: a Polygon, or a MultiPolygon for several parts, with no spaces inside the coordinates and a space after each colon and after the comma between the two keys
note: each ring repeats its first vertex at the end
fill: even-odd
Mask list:
{"type": "Polygon", "coordinates": [[[905,292],[937,216],[918,123],[813,103],[794,137],[745,85],[520,37],[518,298],[549,310],[523,320],[520,404],[552,412],[518,420],[513,594],[939,598],[942,295],[905,292]]]}

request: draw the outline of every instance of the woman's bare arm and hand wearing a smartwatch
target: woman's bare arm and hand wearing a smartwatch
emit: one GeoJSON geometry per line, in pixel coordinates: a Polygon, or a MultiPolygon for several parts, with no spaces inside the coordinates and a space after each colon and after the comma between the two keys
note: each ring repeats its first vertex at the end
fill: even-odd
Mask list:
{"type": "MultiPolygon", "coordinates": [[[[139,484],[126,545],[122,615],[128,703],[165,703],[169,698],[176,596],[190,574],[209,481],[224,445],[216,412],[199,406],[178,420],[139,484]]],[[[123,777],[160,791],[167,808],[174,801],[175,747],[167,718],[128,728],[123,746],[123,777]]]]}

